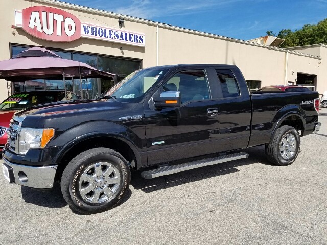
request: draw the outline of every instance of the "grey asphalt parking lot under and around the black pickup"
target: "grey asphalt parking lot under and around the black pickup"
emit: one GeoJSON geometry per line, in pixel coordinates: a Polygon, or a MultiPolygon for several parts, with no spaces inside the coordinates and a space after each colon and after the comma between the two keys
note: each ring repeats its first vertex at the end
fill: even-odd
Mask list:
{"type": "Polygon", "coordinates": [[[290,166],[249,158],[153,180],[132,175],[116,208],[77,215],[60,188],[0,177],[1,244],[327,244],[327,108],[290,166]]]}

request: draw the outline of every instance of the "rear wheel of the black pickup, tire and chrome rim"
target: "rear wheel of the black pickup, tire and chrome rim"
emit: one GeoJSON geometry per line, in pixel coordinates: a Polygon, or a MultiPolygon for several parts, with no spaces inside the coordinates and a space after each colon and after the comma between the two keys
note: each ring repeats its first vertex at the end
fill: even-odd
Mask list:
{"type": "Polygon", "coordinates": [[[300,136],[295,128],[284,125],[277,129],[272,141],[266,145],[268,161],[275,165],[292,164],[300,152],[300,136]]]}

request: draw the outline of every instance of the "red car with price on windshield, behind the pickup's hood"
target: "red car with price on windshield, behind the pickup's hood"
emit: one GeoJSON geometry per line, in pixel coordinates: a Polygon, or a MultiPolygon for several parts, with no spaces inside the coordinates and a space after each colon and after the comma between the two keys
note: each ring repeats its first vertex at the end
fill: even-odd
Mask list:
{"type": "MultiPolygon", "coordinates": [[[[69,99],[77,99],[76,96],[71,95],[72,93],[67,93],[69,99]]],[[[62,90],[15,93],[4,100],[0,104],[0,151],[7,143],[6,130],[15,112],[31,106],[62,100],[65,100],[65,92],[62,90]]]]}

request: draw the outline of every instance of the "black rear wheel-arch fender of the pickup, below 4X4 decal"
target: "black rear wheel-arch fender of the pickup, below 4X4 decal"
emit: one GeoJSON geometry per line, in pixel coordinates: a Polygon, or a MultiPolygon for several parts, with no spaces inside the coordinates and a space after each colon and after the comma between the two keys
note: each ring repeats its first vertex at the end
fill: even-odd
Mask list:
{"type": "Polygon", "coordinates": [[[272,136],[270,138],[270,142],[273,139],[273,136],[276,132],[276,130],[282,125],[283,121],[289,116],[296,116],[299,119],[301,119],[303,124],[303,130],[306,130],[306,120],[305,120],[305,112],[303,109],[296,104],[291,104],[283,107],[280,109],[275,117],[272,120],[272,136]]]}

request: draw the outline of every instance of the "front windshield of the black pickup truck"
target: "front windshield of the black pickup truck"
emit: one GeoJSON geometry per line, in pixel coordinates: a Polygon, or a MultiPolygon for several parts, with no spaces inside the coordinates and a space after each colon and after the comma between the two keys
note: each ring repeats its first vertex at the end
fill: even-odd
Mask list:
{"type": "Polygon", "coordinates": [[[145,93],[167,71],[167,69],[142,69],[134,71],[109,89],[104,96],[112,96],[121,102],[139,102],[145,93]]]}

